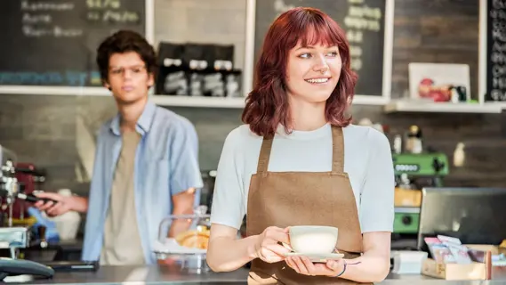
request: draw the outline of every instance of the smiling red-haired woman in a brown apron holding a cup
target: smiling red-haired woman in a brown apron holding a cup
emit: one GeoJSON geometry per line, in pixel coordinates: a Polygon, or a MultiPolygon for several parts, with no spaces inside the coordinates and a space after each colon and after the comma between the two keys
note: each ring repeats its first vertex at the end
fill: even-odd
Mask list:
{"type": "Polygon", "coordinates": [[[294,8],[265,37],[256,82],[228,135],[216,177],[207,262],[250,284],[382,281],[390,269],[394,174],[387,138],[350,125],[356,77],[343,30],[325,13],[294,8]],[[237,239],[246,215],[245,239],[237,239]],[[344,259],[285,257],[292,225],[339,228],[344,259]]]}

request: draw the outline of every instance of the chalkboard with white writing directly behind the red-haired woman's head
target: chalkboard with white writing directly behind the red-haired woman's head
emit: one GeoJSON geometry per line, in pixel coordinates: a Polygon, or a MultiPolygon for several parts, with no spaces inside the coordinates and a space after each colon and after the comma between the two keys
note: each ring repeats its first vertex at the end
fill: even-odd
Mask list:
{"type": "Polygon", "coordinates": [[[270,24],[293,7],[313,7],[333,18],[347,33],[355,93],[382,96],[386,0],[256,0],[255,62],[270,24]]]}

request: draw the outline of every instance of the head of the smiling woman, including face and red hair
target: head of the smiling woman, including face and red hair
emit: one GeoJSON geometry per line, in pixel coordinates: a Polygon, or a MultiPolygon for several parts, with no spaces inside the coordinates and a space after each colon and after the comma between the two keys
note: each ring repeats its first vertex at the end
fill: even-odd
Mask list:
{"type": "Polygon", "coordinates": [[[350,69],[349,45],[337,23],[324,13],[311,14],[316,11],[285,12],[265,37],[262,50],[268,52],[261,54],[243,114],[243,121],[252,124],[256,134],[274,134],[278,124],[292,126],[290,99],[326,101],[325,119],[335,126],[349,124],[344,111],[357,81],[350,69]],[[315,88],[307,83],[325,84],[315,88]]]}

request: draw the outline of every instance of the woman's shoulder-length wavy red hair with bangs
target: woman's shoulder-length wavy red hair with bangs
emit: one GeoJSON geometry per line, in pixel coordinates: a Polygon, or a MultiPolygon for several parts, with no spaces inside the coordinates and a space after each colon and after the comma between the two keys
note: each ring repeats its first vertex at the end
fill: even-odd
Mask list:
{"type": "Polygon", "coordinates": [[[246,97],[243,122],[253,133],[274,135],[279,124],[292,125],[285,89],[288,53],[302,46],[337,45],[341,56],[341,76],[325,104],[325,118],[333,126],[348,126],[346,115],[353,99],[357,76],[349,66],[349,44],[341,27],[324,12],[297,7],[281,14],[269,28],[254,71],[253,90],[246,97]]]}

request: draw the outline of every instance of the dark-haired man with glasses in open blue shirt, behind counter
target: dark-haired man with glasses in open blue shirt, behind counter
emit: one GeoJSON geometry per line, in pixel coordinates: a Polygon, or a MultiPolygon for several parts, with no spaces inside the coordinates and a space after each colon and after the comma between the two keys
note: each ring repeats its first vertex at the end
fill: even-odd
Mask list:
{"type": "MultiPolygon", "coordinates": [[[[100,128],[89,198],[37,194],[49,216],[87,212],[82,259],[102,265],[154,264],[158,226],[171,214],[191,214],[203,186],[194,126],[149,102],[157,57],[132,31],[119,31],[98,48],[103,85],[118,113],[100,128]]],[[[188,229],[174,222],[169,236],[188,229]]]]}

